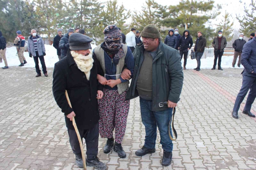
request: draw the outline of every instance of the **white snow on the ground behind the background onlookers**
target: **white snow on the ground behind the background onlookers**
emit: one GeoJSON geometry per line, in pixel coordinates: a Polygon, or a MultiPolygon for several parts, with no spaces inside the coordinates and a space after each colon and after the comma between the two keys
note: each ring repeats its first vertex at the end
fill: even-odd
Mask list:
{"type": "MultiPolygon", "coordinates": [[[[94,49],[96,47],[96,45],[91,44],[92,49],[94,49]]],[[[44,57],[45,59],[45,64],[46,67],[50,68],[50,67],[54,67],[54,64],[58,61],[58,56],[57,56],[57,51],[53,46],[50,45],[45,45],[45,53],[46,56],[44,57]]],[[[19,62],[19,58],[18,56],[16,56],[17,50],[15,47],[11,47],[11,48],[7,48],[6,50],[6,58],[7,58],[7,62],[8,62],[8,66],[18,66],[20,64],[19,62]]],[[[27,64],[25,64],[24,67],[35,67],[35,62],[33,58],[30,58],[28,55],[28,52],[24,52],[24,56],[27,60],[27,64]]],[[[201,69],[211,69],[213,67],[213,60],[214,57],[208,57],[206,59],[201,59],[201,69]]],[[[222,56],[221,59],[221,67],[222,68],[232,68],[232,61],[233,61],[233,56],[222,56]]],[[[181,60],[182,62],[182,66],[184,63],[184,59],[181,60]]],[[[238,62],[238,60],[237,60],[238,62]]],[[[217,64],[218,65],[218,64],[217,64]]],[[[41,67],[41,64],[39,63],[39,66],[41,67]]],[[[0,67],[4,67],[4,62],[0,63],[0,67]]],[[[195,59],[191,60],[190,56],[187,59],[187,65],[186,68],[187,69],[194,69],[197,67],[197,62],[195,59]]],[[[239,68],[237,67],[237,64],[235,66],[235,68],[239,68]]],[[[240,68],[244,68],[242,65],[240,68]]]]}

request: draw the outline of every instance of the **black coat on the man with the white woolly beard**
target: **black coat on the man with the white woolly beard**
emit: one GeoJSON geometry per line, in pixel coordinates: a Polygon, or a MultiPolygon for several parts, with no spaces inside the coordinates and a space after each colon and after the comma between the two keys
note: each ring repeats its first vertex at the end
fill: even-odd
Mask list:
{"type": "Polygon", "coordinates": [[[103,86],[97,80],[97,74],[104,75],[100,63],[93,57],[93,67],[90,73],[90,81],[85,73],[78,69],[75,60],[68,50],[67,56],[55,63],[53,71],[53,96],[61,111],[65,115],[66,127],[74,129],[72,121],[66,117],[72,111],[75,112],[75,122],[78,129],[90,129],[99,122],[99,108],[97,91],[103,91],[103,86]],[[68,105],[65,90],[70,98],[68,105]]]}

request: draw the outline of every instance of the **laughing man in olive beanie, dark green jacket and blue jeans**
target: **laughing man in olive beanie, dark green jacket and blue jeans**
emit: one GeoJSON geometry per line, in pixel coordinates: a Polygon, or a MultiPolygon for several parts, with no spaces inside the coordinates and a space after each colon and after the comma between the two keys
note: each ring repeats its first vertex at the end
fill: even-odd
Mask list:
{"type": "MultiPolygon", "coordinates": [[[[126,96],[127,100],[140,97],[141,120],[146,131],[144,146],[135,154],[144,156],[156,151],[158,127],[164,150],[162,165],[168,166],[173,150],[168,125],[173,108],[180,100],[183,85],[181,56],[177,50],[161,42],[159,30],[154,24],[143,29],[141,38],[143,46],[137,46],[134,51],[134,76],[126,96]]],[[[121,78],[130,78],[127,72],[129,70],[125,69],[121,78]]]]}

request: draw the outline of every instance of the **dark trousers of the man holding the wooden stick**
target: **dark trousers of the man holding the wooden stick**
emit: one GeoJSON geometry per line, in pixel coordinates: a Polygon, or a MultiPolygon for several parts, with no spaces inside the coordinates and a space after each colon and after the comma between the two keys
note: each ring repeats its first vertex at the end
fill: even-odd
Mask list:
{"type": "MultiPolygon", "coordinates": [[[[91,129],[79,130],[80,137],[86,143],[86,156],[89,160],[94,159],[94,156],[98,155],[99,144],[99,123],[95,124],[91,129]]],[[[75,130],[67,129],[69,142],[74,154],[81,154],[79,140],[77,138],[75,130]]]]}

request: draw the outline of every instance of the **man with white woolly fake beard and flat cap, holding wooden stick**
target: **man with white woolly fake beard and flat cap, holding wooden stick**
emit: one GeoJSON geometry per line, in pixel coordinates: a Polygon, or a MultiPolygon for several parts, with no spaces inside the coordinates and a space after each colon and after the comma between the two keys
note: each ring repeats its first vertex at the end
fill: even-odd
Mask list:
{"type": "Polygon", "coordinates": [[[105,170],[98,155],[99,141],[99,108],[98,100],[103,96],[103,86],[97,80],[97,74],[103,71],[96,57],[92,56],[90,42],[92,39],[83,34],[72,34],[69,37],[67,56],[55,63],[53,70],[53,96],[64,113],[69,141],[76,157],[76,165],[83,167],[79,140],[74,130],[72,119],[79,130],[81,139],[86,143],[86,165],[105,170]],[[71,106],[69,106],[67,91],[71,106]]]}

